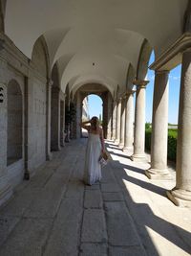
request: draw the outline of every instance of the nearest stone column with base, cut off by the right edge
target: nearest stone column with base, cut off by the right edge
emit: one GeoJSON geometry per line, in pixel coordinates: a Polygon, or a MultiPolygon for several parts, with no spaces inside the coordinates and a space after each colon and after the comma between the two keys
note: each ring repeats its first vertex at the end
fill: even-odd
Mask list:
{"type": "Polygon", "coordinates": [[[191,50],[182,55],[176,187],[167,192],[176,205],[191,207],[191,50]]]}

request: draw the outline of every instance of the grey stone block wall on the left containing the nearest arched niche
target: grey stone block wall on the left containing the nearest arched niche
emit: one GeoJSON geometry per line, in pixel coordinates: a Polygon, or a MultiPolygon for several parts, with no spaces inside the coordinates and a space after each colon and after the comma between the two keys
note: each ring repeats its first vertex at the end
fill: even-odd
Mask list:
{"type": "Polygon", "coordinates": [[[25,172],[46,161],[48,71],[45,50],[38,43],[32,60],[6,35],[0,35],[0,204],[11,197],[25,172]],[[7,153],[8,152],[8,153],[7,153]]]}

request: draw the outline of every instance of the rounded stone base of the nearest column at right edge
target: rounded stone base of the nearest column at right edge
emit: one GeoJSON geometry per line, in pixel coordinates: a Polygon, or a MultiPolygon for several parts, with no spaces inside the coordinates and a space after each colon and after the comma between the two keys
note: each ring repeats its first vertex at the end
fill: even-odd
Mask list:
{"type": "Polygon", "coordinates": [[[167,191],[166,195],[175,205],[191,208],[191,191],[173,189],[167,191]]]}

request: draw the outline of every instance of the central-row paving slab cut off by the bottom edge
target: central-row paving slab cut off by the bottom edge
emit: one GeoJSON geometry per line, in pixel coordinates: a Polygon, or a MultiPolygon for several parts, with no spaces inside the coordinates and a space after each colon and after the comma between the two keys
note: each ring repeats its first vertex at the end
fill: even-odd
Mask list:
{"type": "Polygon", "coordinates": [[[80,256],[107,256],[107,244],[81,244],[80,256]]]}

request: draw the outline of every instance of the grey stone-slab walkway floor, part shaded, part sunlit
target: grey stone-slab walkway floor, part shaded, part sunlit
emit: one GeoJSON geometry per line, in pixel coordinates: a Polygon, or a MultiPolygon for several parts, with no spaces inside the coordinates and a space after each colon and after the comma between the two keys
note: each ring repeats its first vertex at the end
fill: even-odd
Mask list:
{"type": "Polygon", "coordinates": [[[175,171],[171,181],[149,180],[148,163],[132,162],[108,141],[113,160],[101,184],[85,186],[85,143],[53,153],[53,161],[17,187],[0,210],[0,255],[190,255],[191,210],[165,196],[175,171]]]}

